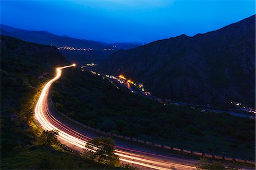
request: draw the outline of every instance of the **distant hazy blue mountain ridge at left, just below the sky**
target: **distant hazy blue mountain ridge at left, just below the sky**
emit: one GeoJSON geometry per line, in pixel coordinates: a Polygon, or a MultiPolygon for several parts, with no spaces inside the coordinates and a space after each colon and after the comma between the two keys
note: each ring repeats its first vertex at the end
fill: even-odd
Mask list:
{"type": "Polygon", "coordinates": [[[27,31],[0,25],[1,35],[16,37],[24,41],[35,42],[37,44],[54,45],[54,46],[72,46],[73,48],[92,48],[104,49],[111,48],[110,45],[103,45],[96,41],[80,40],[68,36],[57,36],[47,31],[27,31]]]}

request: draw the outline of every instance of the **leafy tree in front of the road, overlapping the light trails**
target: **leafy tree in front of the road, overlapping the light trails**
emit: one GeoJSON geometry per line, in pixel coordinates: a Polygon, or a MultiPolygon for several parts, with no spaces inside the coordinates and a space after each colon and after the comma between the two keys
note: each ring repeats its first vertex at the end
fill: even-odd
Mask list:
{"type": "Polygon", "coordinates": [[[85,144],[85,158],[93,162],[118,165],[119,157],[114,154],[114,141],[111,138],[97,137],[85,144]]]}

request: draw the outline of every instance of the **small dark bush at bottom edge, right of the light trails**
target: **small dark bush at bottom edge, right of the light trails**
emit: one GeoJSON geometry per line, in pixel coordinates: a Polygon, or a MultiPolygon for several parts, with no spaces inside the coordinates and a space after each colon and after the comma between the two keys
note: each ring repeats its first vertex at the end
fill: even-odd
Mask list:
{"type": "Polygon", "coordinates": [[[199,170],[208,170],[208,169],[226,169],[224,164],[220,162],[209,162],[207,158],[200,158],[196,163],[196,169],[199,170]]]}

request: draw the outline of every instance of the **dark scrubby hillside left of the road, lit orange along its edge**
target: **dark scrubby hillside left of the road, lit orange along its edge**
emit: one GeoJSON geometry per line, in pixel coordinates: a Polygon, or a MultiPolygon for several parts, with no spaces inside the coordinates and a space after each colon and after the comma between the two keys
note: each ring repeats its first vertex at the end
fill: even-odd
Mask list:
{"type": "Polygon", "coordinates": [[[1,36],[0,169],[113,169],[61,145],[56,131],[42,131],[34,120],[43,84],[65,63],[53,46],[1,36]]]}

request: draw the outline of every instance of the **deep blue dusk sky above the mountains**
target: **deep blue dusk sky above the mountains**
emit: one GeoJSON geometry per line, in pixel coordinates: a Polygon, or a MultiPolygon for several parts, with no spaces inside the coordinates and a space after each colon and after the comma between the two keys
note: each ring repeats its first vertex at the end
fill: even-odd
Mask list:
{"type": "Polygon", "coordinates": [[[253,14],[254,0],[1,0],[1,24],[104,42],[193,36],[253,14]]]}

